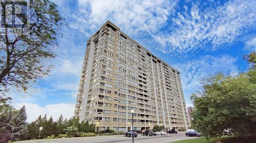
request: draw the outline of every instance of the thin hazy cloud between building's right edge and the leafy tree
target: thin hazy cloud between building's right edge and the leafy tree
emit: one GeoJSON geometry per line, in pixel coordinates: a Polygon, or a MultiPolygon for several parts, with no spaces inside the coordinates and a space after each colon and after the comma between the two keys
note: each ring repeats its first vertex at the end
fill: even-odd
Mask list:
{"type": "Polygon", "coordinates": [[[181,72],[183,90],[194,91],[199,85],[202,77],[223,72],[229,75],[237,75],[239,72],[236,66],[237,58],[229,55],[215,57],[212,55],[200,56],[198,60],[191,60],[174,64],[174,67],[181,72]]]}

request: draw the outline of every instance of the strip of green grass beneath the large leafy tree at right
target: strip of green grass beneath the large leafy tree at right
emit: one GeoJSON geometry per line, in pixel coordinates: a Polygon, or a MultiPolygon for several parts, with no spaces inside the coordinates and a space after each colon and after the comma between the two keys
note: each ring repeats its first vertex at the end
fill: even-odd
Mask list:
{"type": "Polygon", "coordinates": [[[222,136],[218,138],[212,138],[210,140],[205,139],[204,137],[185,139],[180,141],[173,141],[172,143],[215,143],[217,141],[221,141],[221,143],[250,143],[254,142],[255,138],[248,137],[234,137],[234,136],[222,136]]]}

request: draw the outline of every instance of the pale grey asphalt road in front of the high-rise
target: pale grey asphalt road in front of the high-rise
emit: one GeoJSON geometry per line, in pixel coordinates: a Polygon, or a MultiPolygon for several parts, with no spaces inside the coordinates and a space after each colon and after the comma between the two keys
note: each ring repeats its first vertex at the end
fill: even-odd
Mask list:
{"type": "MultiPolygon", "coordinates": [[[[162,142],[171,142],[183,139],[189,139],[195,137],[186,137],[184,134],[179,134],[178,136],[138,136],[134,138],[135,143],[162,143],[162,142]]],[[[131,143],[132,137],[124,137],[124,136],[93,136],[93,137],[75,137],[75,138],[56,138],[56,139],[38,139],[38,140],[24,140],[24,141],[17,141],[17,142],[30,142],[30,143],[39,143],[39,142],[46,142],[46,143],[112,143],[112,142],[122,142],[122,143],[131,143]]]]}

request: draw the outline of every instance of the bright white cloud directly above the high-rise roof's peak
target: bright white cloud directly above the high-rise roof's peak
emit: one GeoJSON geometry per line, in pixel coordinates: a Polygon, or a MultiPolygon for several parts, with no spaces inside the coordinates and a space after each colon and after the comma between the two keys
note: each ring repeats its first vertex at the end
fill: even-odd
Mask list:
{"type": "MultiPolygon", "coordinates": [[[[69,13],[73,21],[70,27],[90,36],[106,21],[110,20],[130,36],[143,34],[148,28],[157,32],[163,27],[168,16],[174,13],[177,1],[98,1],[78,0],[77,11],[69,13]],[[86,26],[85,26],[86,25],[86,26]]],[[[65,6],[62,11],[67,13],[65,6]]]]}

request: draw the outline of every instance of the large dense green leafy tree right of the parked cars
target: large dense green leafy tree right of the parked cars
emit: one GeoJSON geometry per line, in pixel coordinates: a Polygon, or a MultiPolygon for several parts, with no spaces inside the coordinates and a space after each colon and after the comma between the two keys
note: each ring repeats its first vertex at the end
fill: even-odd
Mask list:
{"type": "Polygon", "coordinates": [[[256,72],[238,76],[217,74],[202,79],[198,92],[191,95],[195,105],[193,126],[203,136],[216,137],[224,129],[236,135],[254,133],[256,128],[256,72]]]}

